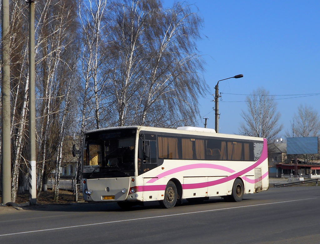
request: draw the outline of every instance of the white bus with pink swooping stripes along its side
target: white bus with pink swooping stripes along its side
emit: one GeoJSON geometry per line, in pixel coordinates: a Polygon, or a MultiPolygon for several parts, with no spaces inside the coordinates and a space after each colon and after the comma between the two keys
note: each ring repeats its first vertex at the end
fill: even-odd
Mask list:
{"type": "Polygon", "coordinates": [[[83,143],[85,201],[122,208],[159,201],[171,208],[182,199],[241,201],[245,193],[268,189],[264,138],[190,126],[123,126],[86,131],[83,143]]]}

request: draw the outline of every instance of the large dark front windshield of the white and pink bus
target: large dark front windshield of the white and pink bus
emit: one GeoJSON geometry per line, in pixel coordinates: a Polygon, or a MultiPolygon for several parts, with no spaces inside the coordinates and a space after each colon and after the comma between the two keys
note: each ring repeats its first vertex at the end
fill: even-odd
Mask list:
{"type": "Polygon", "coordinates": [[[85,178],[113,178],[134,175],[135,129],[88,133],[84,137],[85,178]]]}

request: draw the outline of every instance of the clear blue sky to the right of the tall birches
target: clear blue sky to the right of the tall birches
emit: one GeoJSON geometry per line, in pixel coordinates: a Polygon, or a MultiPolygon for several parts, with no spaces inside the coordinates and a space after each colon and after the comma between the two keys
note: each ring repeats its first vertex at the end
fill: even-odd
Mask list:
{"type": "Polygon", "coordinates": [[[187,2],[204,18],[198,48],[207,62],[204,77],[210,93],[200,100],[198,126],[203,127],[202,118],[207,117],[207,127],[214,128],[214,86],[237,74],[244,77],[219,82],[220,133],[238,133],[243,121],[246,95],[233,94],[250,94],[258,87],[276,95],[284,125],[279,138],[290,129],[300,104],[320,114],[320,1],[187,2]]]}

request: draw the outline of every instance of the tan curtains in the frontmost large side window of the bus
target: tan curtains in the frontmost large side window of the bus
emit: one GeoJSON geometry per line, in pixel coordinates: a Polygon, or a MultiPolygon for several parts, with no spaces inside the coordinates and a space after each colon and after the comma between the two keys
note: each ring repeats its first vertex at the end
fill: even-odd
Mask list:
{"type": "Polygon", "coordinates": [[[178,138],[158,136],[159,159],[178,159],[178,138]]]}

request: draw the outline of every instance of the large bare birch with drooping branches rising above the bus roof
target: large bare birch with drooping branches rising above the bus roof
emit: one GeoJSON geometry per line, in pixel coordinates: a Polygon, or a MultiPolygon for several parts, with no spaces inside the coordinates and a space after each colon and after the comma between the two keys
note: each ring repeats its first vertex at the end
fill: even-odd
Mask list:
{"type": "Polygon", "coordinates": [[[196,50],[202,19],[191,6],[124,1],[110,35],[110,97],[118,126],[177,126],[195,122],[206,85],[196,50]]]}

